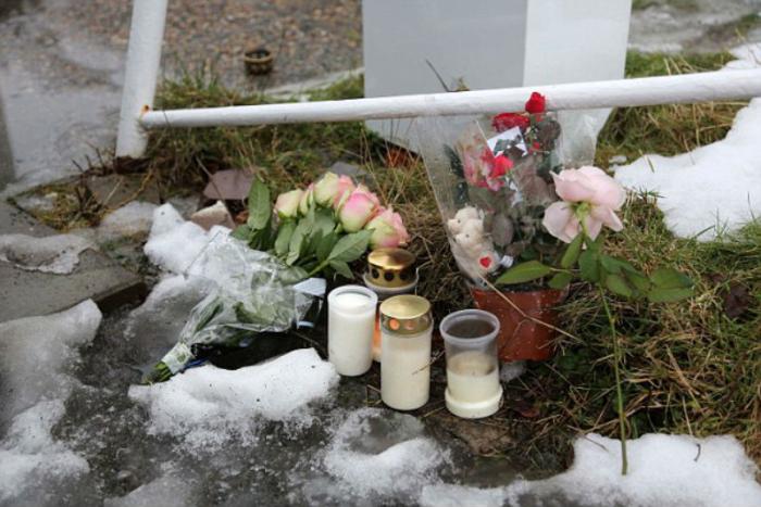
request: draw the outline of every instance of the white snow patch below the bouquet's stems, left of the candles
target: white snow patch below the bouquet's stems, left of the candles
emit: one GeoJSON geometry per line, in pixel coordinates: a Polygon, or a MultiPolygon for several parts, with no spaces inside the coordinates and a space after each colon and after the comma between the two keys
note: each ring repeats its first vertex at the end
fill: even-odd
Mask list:
{"type": "Polygon", "coordinates": [[[333,365],[314,348],[302,348],[237,370],[191,368],[167,382],[133,385],[129,397],[148,407],[150,434],[166,433],[190,447],[214,449],[234,436],[252,443],[253,416],[310,423],[307,405],[327,397],[337,383],[333,365]]]}

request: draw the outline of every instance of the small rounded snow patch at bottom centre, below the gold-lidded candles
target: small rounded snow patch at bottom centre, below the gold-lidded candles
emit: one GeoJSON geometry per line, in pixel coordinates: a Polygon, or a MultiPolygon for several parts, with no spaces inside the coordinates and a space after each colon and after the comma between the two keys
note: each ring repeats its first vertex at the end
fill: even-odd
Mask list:
{"type": "Polygon", "coordinates": [[[416,418],[392,410],[360,408],[335,431],[324,458],[338,487],[351,494],[391,496],[417,492],[438,481],[446,451],[425,436],[416,418]]]}

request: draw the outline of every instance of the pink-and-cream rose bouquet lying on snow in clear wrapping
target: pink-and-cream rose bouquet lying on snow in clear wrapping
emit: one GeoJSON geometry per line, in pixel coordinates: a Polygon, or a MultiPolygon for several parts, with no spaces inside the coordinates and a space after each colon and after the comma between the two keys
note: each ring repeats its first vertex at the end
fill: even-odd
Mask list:
{"type": "Polygon", "coordinates": [[[278,195],[274,207],[270,189],[254,179],[246,224],[212,239],[189,269],[217,289],[190,312],[177,344],[145,380],[167,380],[209,348],[247,346],[258,334],[288,331],[325,291],[324,280],[310,277],[352,278],[349,263],[369,246],[408,240],[399,214],[347,176],[326,173],[305,190],[278,195]]]}

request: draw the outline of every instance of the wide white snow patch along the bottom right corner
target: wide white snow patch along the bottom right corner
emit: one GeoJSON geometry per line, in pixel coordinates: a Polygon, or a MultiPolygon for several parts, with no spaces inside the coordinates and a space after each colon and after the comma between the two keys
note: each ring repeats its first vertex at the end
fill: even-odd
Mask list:
{"type": "Polygon", "coordinates": [[[758,468],[731,435],[696,439],[646,434],[627,442],[628,473],[621,474],[621,443],[588,434],[574,443],[574,462],[541,481],[516,481],[502,489],[427,487],[423,505],[552,505],[607,507],[759,507],[758,468]],[[561,502],[562,499],[562,502],[561,502]]]}

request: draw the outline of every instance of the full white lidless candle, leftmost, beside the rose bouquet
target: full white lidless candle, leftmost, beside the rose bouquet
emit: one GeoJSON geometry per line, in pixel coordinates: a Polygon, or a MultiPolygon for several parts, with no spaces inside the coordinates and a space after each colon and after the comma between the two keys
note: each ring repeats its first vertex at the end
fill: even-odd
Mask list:
{"type": "Polygon", "coordinates": [[[378,296],[362,286],[344,286],[327,295],[327,358],[339,375],[357,377],[373,365],[373,332],[378,296]]]}

